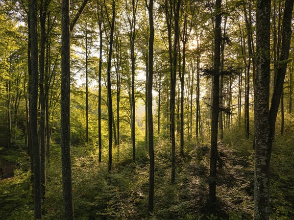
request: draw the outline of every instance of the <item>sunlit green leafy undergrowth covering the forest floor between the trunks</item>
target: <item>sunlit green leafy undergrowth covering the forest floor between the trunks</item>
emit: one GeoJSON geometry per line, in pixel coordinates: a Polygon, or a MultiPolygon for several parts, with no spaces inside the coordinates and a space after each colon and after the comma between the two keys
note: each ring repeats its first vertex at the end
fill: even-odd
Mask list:
{"type": "MultiPolygon", "coordinates": [[[[98,163],[97,146],[72,147],[75,220],[249,220],[253,216],[254,157],[252,140],[232,130],[219,143],[217,208],[211,211],[208,197],[210,147],[204,140],[186,142],[185,156],[176,156],[176,181],[171,183],[171,148],[168,140],[155,145],[154,212],[147,216],[148,153],[137,145],[113,149],[113,169],[107,171],[107,152],[98,163]]],[[[293,137],[277,137],[272,156],[271,219],[294,215],[293,137]]],[[[179,143],[177,143],[179,146],[179,143]]],[[[19,171],[13,180],[1,181],[0,219],[33,218],[30,174],[19,171]]],[[[47,165],[44,220],[63,219],[60,147],[53,146],[47,165]]]]}

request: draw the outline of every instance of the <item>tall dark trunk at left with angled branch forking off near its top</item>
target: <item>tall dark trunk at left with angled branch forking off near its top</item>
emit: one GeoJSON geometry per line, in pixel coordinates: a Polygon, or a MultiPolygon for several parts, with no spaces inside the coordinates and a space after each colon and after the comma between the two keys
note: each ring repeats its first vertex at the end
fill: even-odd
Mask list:
{"type": "Polygon", "coordinates": [[[71,92],[71,32],[82,14],[88,0],[84,0],[72,23],[70,22],[70,0],[62,0],[61,21],[61,165],[62,189],[65,203],[65,219],[73,220],[72,168],[70,148],[70,92],[71,92]]]}

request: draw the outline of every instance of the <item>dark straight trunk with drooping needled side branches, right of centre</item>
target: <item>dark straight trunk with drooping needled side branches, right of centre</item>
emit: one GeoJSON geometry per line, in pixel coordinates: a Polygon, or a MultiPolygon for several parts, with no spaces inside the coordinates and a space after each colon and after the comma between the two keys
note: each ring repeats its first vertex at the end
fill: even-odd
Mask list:
{"type": "Polygon", "coordinates": [[[214,75],[212,97],[212,120],[211,120],[211,153],[209,176],[209,196],[212,208],[216,205],[216,176],[218,158],[218,118],[220,103],[220,62],[221,62],[221,0],[216,1],[216,24],[215,24],[215,52],[214,52],[214,75]]]}

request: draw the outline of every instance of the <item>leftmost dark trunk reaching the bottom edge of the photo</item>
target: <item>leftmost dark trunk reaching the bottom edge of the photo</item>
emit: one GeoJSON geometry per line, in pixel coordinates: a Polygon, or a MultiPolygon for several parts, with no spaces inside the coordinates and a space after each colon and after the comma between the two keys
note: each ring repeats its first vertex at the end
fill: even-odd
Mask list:
{"type": "Polygon", "coordinates": [[[41,161],[38,143],[38,29],[37,29],[37,1],[30,0],[30,40],[31,40],[31,98],[30,98],[30,132],[32,141],[33,167],[34,167],[34,219],[40,220],[42,216],[41,205],[41,161]]]}

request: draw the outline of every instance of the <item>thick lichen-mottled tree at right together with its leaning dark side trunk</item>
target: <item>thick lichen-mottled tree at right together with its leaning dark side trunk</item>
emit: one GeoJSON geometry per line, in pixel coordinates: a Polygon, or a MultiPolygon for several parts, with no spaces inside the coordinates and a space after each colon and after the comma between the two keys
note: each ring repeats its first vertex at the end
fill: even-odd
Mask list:
{"type": "Polygon", "coordinates": [[[289,57],[291,20],[294,0],[285,1],[282,24],[280,64],[269,109],[270,91],[270,0],[257,1],[256,13],[256,92],[255,118],[255,172],[254,219],[269,219],[270,157],[275,133],[277,112],[283,93],[283,85],[289,57]],[[286,62],[285,62],[286,61],[286,62]]]}

